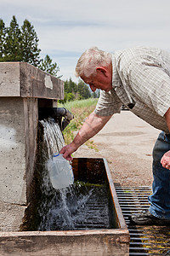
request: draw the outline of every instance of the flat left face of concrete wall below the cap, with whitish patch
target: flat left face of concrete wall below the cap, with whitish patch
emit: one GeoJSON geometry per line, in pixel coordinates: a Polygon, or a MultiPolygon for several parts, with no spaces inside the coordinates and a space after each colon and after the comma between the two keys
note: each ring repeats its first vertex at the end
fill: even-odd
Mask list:
{"type": "Polygon", "coordinates": [[[0,100],[0,201],[26,204],[26,137],[24,102],[0,100]]]}

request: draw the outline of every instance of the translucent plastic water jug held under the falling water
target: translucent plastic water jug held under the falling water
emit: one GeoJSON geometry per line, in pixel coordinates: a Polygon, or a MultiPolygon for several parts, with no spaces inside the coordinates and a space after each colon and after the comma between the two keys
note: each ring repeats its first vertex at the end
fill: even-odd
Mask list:
{"type": "Polygon", "coordinates": [[[74,183],[72,167],[62,154],[54,154],[48,160],[48,172],[54,189],[64,189],[74,183]]]}

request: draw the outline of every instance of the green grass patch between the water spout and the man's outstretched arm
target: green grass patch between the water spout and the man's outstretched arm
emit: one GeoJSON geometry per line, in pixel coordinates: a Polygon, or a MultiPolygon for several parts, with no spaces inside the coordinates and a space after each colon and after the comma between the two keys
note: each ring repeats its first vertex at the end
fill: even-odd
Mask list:
{"type": "MultiPolygon", "coordinates": [[[[75,137],[76,131],[81,128],[84,120],[88,117],[88,114],[94,111],[97,102],[98,99],[89,98],[87,100],[58,104],[58,107],[66,108],[74,114],[74,119],[71,120],[71,123],[63,131],[65,144],[71,143],[75,137]]],[[[92,140],[88,140],[86,144],[88,145],[88,148],[94,148],[96,151],[98,150],[92,140]]]]}

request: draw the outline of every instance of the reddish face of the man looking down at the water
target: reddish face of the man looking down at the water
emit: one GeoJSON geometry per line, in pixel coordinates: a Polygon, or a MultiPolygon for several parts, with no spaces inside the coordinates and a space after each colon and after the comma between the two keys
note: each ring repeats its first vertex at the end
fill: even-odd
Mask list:
{"type": "Polygon", "coordinates": [[[81,79],[89,84],[90,89],[95,91],[96,89],[105,90],[108,92],[112,89],[112,76],[107,73],[107,76],[102,71],[97,71],[95,75],[91,75],[90,77],[85,77],[82,75],[81,79]]]}

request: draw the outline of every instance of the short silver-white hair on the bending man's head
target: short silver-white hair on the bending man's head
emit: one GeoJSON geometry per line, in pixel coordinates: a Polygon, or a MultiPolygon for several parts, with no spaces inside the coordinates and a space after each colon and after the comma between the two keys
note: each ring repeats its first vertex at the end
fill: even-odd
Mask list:
{"type": "Polygon", "coordinates": [[[87,49],[77,61],[75,75],[77,78],[82,75],[89,78],[90,75],[96,73],[96,67],[106,67],[110,63],[110,53],[98,49],[97,47],[91,47],[87,49]]]}

